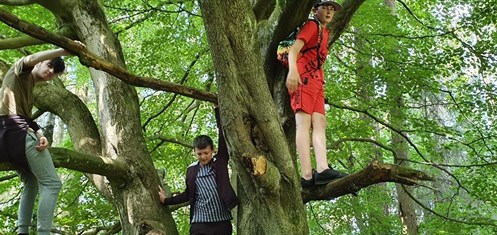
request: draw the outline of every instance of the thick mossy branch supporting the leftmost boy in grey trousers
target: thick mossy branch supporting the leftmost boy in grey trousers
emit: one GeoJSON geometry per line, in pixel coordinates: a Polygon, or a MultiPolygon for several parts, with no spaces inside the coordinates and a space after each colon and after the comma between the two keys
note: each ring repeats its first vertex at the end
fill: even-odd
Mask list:
{"type": "MultiPolygon", "coordinates": [[[[50,153],[56,167],[103,175],[109,178],[124,178],[128,175],[128,166],[110,158],[64,148],[50,148],[50,153]]],[[[0,163],[0,171],[6,170],[14,170],[14,167],[9,163],[0,163]]]]}

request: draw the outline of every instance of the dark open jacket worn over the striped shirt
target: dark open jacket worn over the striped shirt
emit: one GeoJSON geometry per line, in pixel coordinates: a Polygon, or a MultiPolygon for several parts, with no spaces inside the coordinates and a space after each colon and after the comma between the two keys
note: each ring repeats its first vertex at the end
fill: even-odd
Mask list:
{"type": "MultiPolygon", "coordinates": [[[[218,134],[219,146],[217,154],[212,158],[209,164],[212,164],[212,167],[216,171],[216,184],[217,184],[217,192],[219,194],[219,197],[221,198],[221,201],[224,203],[224,205],[229,210],[231,210],[235,206],[237,206],[238,203],[240,203],[240,201],[238,200],[238,197],[236,196],[235,191],[233,190],[233,187],[231,187],[230,184],[230,179],[228,174],[228,160],[229,160],[228,148],[224,140],[223,131],[220,125],[219,110],[217,108],[216,108],[216,122],[219,130],[218,134]]],[[[164,201],[164,204],[166,205],[179,204],[190,201],[190,219],[193,218],[193,213],[195,213],[194,212],[195,203],[197,201],[195,198],[195,190],[196,190],[195,180],[197,179],[199,167],[200,166],[198,162],[197,164],[190,165],[186,170],[185,191],[174,197],[166,198],[166,200],[164,201]]]]}

